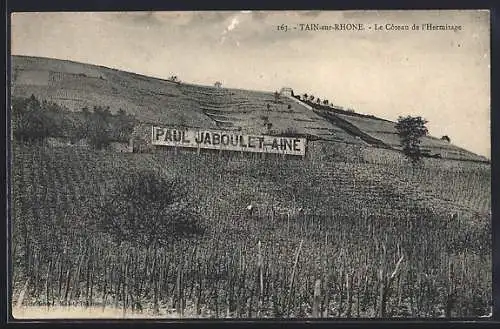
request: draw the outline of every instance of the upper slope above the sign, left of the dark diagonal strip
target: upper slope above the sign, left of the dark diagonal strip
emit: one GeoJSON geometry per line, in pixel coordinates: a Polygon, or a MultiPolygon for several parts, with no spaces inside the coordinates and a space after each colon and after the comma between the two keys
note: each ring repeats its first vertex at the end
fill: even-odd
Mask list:
{"type": "Polygon", "coordinates": [[[267,116],[276,132],[359,143],[342,129],[301,105],[270,92],[177,84],[109,68],[48,58],[12,57],[13,96],[52,100],[71,110],[84,106],[119,108],[147,123],[264,132],[267,116]],[[269,110],[267,104],[270,105],[269,110]],[[290,108],[288,106],[290,105],[290,108]]]}

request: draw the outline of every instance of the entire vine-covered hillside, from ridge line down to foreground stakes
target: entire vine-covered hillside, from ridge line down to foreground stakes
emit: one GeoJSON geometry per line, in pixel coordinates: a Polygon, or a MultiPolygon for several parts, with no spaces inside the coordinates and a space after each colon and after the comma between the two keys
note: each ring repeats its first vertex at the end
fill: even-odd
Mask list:
{"type": "MultiPolygon", "coordinates": [[[[488,314],[489,163],[424,158],[411,166],[394,150],[394,123],[291,96],[22,56],[12,73],[13,96],[34,94],[75,116],[83,107],[121,108],[140,121],[138,135],[146,128],[150,136],[152,124],[264,133],[269,121],[273,133],[309,137],[304,158],[14,138],[12,297],[20,314],[488,314]]],[[[480,159],[440,143],[426,138],[424,146],[480,159]]]]}

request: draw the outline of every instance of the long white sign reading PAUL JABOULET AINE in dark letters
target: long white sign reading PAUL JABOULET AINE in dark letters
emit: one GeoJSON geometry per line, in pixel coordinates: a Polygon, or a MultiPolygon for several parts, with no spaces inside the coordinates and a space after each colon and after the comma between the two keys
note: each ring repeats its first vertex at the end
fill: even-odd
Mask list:
{"type": "Polygon", "coordinates": [[[153,145],[256,153],[305,155],[306,139],[244,135],[234,131],[152,127],[153,145]]]}

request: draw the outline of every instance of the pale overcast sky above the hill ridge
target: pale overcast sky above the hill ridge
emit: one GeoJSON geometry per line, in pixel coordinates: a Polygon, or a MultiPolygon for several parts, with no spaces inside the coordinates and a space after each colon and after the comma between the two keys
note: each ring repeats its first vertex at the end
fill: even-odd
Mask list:
{"type": "Polygon", "coordinates": [[[490,157],[488,11],[17,13],[12,54],[69,59],[226,87],[314,94],[490,157]],[[364,31],[298,24],[362,23],[364,31]],[[374,31],[374,24],[460,25],[374,31]],[[297,30],[278,31],[277,26],[297,30]]]}

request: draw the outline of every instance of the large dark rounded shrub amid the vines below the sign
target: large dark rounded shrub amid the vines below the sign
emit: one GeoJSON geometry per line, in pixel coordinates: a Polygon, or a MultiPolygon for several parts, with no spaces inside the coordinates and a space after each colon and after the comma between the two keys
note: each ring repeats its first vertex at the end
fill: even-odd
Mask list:
{"type": "Polygon", "coordinates": [[[142,170],[123,175],[114,190],[104,197],[100,227],[116,242],[165,244],[204,231],[178,177],[142,170]]]}

